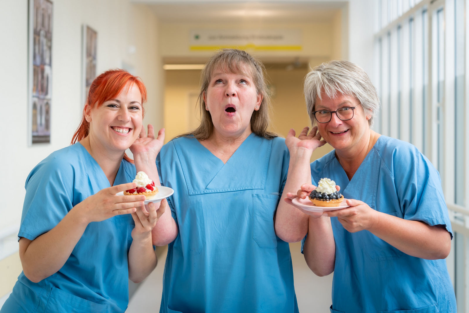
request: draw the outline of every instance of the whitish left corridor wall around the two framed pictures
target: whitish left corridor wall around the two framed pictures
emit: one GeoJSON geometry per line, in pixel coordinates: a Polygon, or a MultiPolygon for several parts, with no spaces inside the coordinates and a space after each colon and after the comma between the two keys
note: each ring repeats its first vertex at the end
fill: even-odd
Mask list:
{"type": "MultiPolygon", "coordinates": [[[[28,0],[0,1],[0,94],[2,147],[0,188],[0,240],[17,231],[24,198],[24,182],[43,158],[70,143],[81,119],[82,25],[98,32],[97,73],[122,67],[134,69],[148,88],[145,122],[163,125],[161,58],[158,55],[158,20],[146,5],[130,0],[54,0],[52,39],[51,143],[28,146],[27,36],[28,0]],[[129,46],[135,47],[132,52],[129,46]],[[130,52],[130,53],[129,53],[130,52]]],[[[0,259],[5,252],[0,243],[0,259]]],[[[13,252],[14,253],[14,252],[13,252]]],[[[0,298],[11,290],[21,271],[18,254],[0,260],[0,298]]]]}

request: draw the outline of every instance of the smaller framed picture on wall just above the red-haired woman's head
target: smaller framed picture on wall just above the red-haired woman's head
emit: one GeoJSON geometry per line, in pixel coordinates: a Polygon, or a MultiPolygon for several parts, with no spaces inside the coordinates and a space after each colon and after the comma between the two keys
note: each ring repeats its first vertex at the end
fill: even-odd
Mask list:
{"type": "Polygon", "coordinates": [[[83,25],[82,29],[82,73],[83,73],[83,98],[82,105],[85,104],[90,90],[91,82],[96,78],[96,51],[98,45],[98,33],[88,25],[83,25]]]}

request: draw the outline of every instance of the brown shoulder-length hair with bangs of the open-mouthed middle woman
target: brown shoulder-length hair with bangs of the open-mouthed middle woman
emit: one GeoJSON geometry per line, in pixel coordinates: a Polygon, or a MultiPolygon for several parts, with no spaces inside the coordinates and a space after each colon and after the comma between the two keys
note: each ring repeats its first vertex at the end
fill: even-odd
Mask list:
{"type": "Polygon", "coordinates": [[[267,131],[269,126],[269,111],[271,94],[265,82],[265,67],[259,60],[253,58],[248,52],[238,49],[221,49],[205,63],[200,77],[200,93],[197,105],[200,110],[200,125],[193,131],[177,137],[193,135],[198,140],[206,140],[213,133],[213,122],[210,112],[205,110],[204,93],[207,91],[212,74],[216,69],[224,73],[250,75],[256,86],[257,94],[262,95],[260,108],[251,116],[251,131],[258,136],[272,139],[278,135],[267,131]]]}

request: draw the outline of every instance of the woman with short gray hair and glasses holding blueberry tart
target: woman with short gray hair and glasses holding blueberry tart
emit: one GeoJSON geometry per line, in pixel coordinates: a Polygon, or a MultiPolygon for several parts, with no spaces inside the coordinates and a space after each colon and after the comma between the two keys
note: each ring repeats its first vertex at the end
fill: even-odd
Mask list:
{"type": "MultiPolygon", "coordinates": [[[[287,202],[310,216],[308,266],[318,276],[334,272],[331,312],[456,312],[444,260],[453,235],[438,171],[413,145],[371,130],[378,96],[356,64],[313,68],[304,94],[311,122],[334,148],[304,171],[313,184],[333,179],[348,207],[310,212],[298,204],[316,188],[309,183],[287,202]]],[[[313,135],[289,135],[287,145],[313,135]]]]}

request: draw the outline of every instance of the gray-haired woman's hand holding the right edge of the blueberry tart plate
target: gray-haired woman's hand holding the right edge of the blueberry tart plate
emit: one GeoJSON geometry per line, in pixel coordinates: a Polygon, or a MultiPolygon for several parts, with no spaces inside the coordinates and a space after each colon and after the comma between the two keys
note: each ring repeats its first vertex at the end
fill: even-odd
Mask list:
{"type": "Polygon", "coordinates": [[[337,217],[340,224],[349,232],[357,232],[370,229],[379,220],[379,212],[371,209],[363,201],[347,199],[348,208],[327,211],[323,214],[329,217],[337,217]]]}

